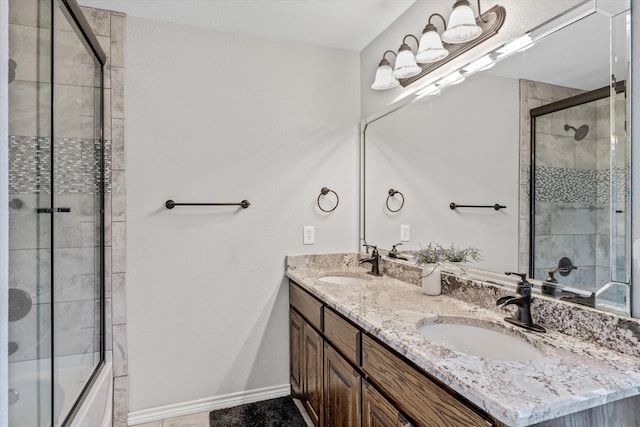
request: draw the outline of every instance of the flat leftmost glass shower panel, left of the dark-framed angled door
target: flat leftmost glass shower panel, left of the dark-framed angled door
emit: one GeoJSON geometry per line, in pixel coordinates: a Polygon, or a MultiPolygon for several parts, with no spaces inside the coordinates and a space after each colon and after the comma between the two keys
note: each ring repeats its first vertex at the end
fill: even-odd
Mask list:
{"type": "Polygon", "coordinates": [[[52,425],[52,0],[9,4],[9,425],[52,425]]]}

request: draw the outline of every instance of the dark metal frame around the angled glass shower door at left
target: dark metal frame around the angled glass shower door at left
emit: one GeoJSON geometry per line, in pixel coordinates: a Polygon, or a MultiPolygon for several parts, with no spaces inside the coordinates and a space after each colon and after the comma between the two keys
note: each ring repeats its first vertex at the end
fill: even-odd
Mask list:
{"type": "MultiPolygon", "coordinates": [[[[73,419],[75,418],[76,414],[78,413],[80,407],[82,406],[83,402],[85,401],[89,390],[91,390],[93,384],[95,383],[98,375],[100,374],[100,371],[102,370],[102,368],[105,365],[105,332],[106,332],[106,325],[105,325],[105,302],[106,302],[106,298],[105,298],[105,143],[104,143],[104,67],[106,65],[106,53],[104,52],[104,50],[102,49],[102,47],[100,46],[100,43],[98,42],[98,38],[96,37],[95,33],[93,32],[93,30],[91,29],[91,26],[89,24],[89,21],[87,21],[86,17],[84,16],[84,13],[82,12],[82,9],[80,8],[80,5],[78,4],[78,2],[76,0],[52,0],[52,5],[51,5],[51,45],[50,45],[50,49],[51,49],[51,60],[55,61],[55,31],[54,31],[54,27],[55,25],[53,25],[53,23],[55,22],[55,2],[58,1],[59,4],[62,7],[66,8],[66,12],[68,13],[68,16],[72,19],[73,22],[71,22],[72,24],[75,24],[77,26],[77,28],[80,30],[81,34],[78,34],[78,36],[80,37],[80,35],[82,36],[82,38],[84,39],[84,42],[91,48],[91,51],[95,57],[95,59],[98,61],[98,63],[100,64],[100,112],[99,112],[99,117],[100,117],[100,124],[99,124],[99,137],[100,137],[100,163],[99,163],[99,167],[100,167],[100,185],[99,185],[99,192],[100,192],[100,208],[99,208],[99,218],[100,218],[100,255],[99,255],[99,268],[100,268],[100,287],[99,287],[99,292],[100,292],[100,360],[98,361],[98,363],[96,364],[92,374],[89,376],[89,378],[87,379],[86,384],[84,385],[82,391],[80,392],[79,396],[77,397],[76,401],[74,402],[73,406],[71,407],[71,409],[68,411],[68,413],[66,415],[64,415],[64,421],[62,422],[62,426],[68,426],[70,425],[70,423],[73,421],[73,419]]],[[[55,105],[54,101],[55,101],[55,84],[54,84],[54,72],[55,72],[55,67],[53,66],[53,63],[51,65],[51,206],[55,206],[54,205],[54,198],[56,197],[55,191],[54,191],[54,156],[53,156],[53,151],[54,151],[54,140],[56,137],[56,133],[55,133],[55,109],[53,108],[53,106],[55,105]]],[[[51,256],[54,256],[54,240],[55,240],[55,233],[53,232],[54,228],[54,222],[55,222],[55,216],[52,213],[51,214],[51,248],[52,248],[52,252],[51,252],[51,256]]],[[[54,271],[55,271],[55,265],[54,262],[52,260],[51,262],[52,268],[51,268],[51,318],[52,318],[52,324],[51,324],[51,328],[52,328],[52,334],[54,331],[54,323],[53,323],[53,317],[54,317],[54,305],[53,301],[54,301],[54,289],[55,289],[55,281],[54,281],[54,271]]],[[[53,381],[51,381],[51,399],[52,402],[55,401],[55,385],[56,385],[56,370],[55,370],[55,354],[54,354],[54,344],[55,344],[55,336],[53,336],[53,339],[51,340],[51,372],[52,372],[52,379],[53,381]]],[[[55,420],[55,409],[54,409],[54,405],[51,405],[51,420],[52,422],[55,420]]]]}

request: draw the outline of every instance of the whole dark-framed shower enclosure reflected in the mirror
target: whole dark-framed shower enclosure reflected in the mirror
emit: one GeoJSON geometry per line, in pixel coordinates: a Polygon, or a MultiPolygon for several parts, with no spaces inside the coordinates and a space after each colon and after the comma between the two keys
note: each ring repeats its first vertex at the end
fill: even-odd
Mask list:
{"type": "Polygon", "coordinates": [[[619,82],[531,110],[530,275],[550,295],[620,312],[631,274],[626,90],[619,82]]]}

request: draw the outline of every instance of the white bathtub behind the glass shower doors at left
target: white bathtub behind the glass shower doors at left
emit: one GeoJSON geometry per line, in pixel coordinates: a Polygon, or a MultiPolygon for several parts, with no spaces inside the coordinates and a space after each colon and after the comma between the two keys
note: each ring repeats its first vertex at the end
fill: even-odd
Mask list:
{"type": "MultiPolygon", "coordinates": [[[[109,427],[112,412],[112,367],[110,354],[102,366],[93,387],[71,422],[74,427],[109,427]]],[[[55,414],[69,412],[86,372],[83,366],[87,355],[64,356],[56,360],[59,381],[54,386],[55,414]]],[[[86,366],[86,365],[84,365],[86,366]]],[[[9,364],[9,395],[17,400],[9,405],[11,427],[51,427],[51,359],[11,362],[9,364]]],[[[59,426],[64,416],[56,419],[59,426]]]]}

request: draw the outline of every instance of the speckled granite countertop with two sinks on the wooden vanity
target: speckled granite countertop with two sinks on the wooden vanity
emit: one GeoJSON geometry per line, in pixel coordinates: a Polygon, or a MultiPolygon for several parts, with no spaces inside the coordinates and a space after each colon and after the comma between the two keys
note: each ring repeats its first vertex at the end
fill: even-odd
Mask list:
{"type": "Polygon", "coordinates": [[[369,280],[358,284],[326,283],[318,278],[339,272],[363,274],[367,269],[358,265],[357,255],[343,255],[337,258],[343,262],[337,263],[335,256],[313,262],[308,259],[287,257],[286,275],[509,426],[527,426],[640,395],[637,357],[549,328],[544,334],[525,331],[505,322],[506,313],[447,295],[427,296],[415,284],[388,276],[367,276],[369,280]],[[544,357],[526,362],[497,361],[449,350],[416,330],[420,320],[438,316],[499,325],[536,346],[544,357]]]}

